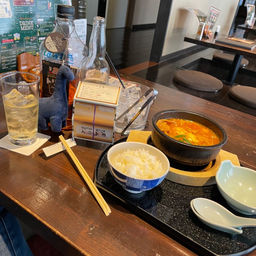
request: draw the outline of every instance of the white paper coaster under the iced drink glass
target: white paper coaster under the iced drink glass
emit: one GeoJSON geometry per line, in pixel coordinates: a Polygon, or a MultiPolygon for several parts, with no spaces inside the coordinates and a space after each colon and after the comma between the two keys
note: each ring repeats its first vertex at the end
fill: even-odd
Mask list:
{"type": "Polygon", "coordinates": [[[6,135],[4,138],[2,138],[0,140],[0,147],[5,148],[5,149],[9,149],[11,151],[20,153],[20,154],[25,155],[25,156],[29,156],[30,154],[32,154],[34,151],[36,151],[37,148],[42,146],[50,138],[51,138],[51,136],[48,136],[48,135],[45,135],[45,134],[42,134],[42,133],[37,133],[37,140],[33,145],[30,145],[30,146],[15,146],[15,145],[11,144],[11,142],[9,140],[9,136],[6,135]]]}

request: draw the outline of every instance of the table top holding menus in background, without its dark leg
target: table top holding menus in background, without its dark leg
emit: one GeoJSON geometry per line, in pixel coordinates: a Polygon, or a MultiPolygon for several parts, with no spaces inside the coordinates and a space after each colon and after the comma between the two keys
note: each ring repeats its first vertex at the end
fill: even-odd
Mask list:
{"type": "MultiPolygon", "coordinates": [[[[227,38],[227,37],[228,37],[228,35],[224,35],[224,34],[218,35],[218,38],[227,38]]],[[[244,55],[244,56],[248,56],[248,57],[256,56],[256,47],[252,50],[248,50],[245,48],[236,47],[236,46],[229,45],[229,44],[217,43],[217,42],[215,42],[215,39],[216,39],[216,37],[214,37],[214,36],[212,36],[211,38],[203,37],[201,40],[196,38],[196,35],[184,37],[184,41],[188,42],[188,43],[198,44],[198,45],[202,45],[205,47],[222,50],[222,51],[227,51],[227,52],[244,55]]]]}

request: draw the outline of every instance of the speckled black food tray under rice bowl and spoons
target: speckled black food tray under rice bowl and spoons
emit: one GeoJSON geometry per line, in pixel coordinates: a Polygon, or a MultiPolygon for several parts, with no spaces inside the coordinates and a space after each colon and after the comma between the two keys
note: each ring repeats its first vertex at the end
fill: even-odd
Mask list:
{"type": "MultiPolygon", "coordinates": [[[[123,138],[114,143],[126,141],[123,138]]],[[[139,194],[127,192],[116,183],[108,170],[107,153],[110,145],[100,155],[95,167],[95,185],[125,203],[125,206],[148,220],[150,224],[176,237],[185,246],[204,255],[247,255],[256,248],[256,229],[243,228],[243,233],[230,235],[203,224],[190,208],[190,201],[197,197],[212,199],[226,207],[235,215],[243,215],[226,203],[217,185],[192,187],[164,180],[156,188],[139,194]]]]}

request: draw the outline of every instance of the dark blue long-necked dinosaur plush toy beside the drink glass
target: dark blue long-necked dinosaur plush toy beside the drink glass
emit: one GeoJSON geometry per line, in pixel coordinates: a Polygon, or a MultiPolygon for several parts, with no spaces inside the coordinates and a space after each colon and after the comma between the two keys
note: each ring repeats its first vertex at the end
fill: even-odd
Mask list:
{"type": "Polygon", "coordinates": [[[55,88],[52,96],[48,98],[39,98],[38,127],[42,130],[47,130],[49,128],[49,122],[53,132],[60,132],[61,128],[67,125],[67,80],[73,81],[74,74],[67,66],[61,66],[56,76],[55,88]]]}

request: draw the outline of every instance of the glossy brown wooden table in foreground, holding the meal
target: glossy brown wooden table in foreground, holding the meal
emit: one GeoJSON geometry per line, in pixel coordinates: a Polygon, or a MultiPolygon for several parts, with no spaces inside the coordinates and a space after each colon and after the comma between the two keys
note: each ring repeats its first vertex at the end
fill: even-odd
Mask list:
{"type": "MultiPolygon", "coordinates": [[[[136,76],[122,72],[119,75],[122,79],[145,84],[158,91],[150,107],[145,130],[151,131],[152,117],[161,110],[180,109],[202,114],[219,123],[227,132],[228,141],[222,149],[237,155],[242,166],[256,170],[255,116],[136,76]]],[[[1,139],[8,132],[0,98],[1,139]]],[[[100,190],[111,209],[110,215],[105,216],[80,179],[67,152],[46,157],[42,151],[42,148],[59,142],[60,134],[65,139],[71,138],[71,131],[54,133],[49,129],[39,132],[51,138],[30,156],[0,148],[0,204],[52,246],[66,256],[202,255],[200,248],[189,239],[185,241],[172,236],[143,215],[133,212],[124,202],[100,190]]],[[[123,138],[115,134],[115,141],[123,138]]],[[[91,179],[100,155],[108,146],[79,140],[72,147],[91,179]]],[[[215,231],[212,229],[210,232],[215,231]]],[[[250,251],[251,256],[256,255],[253,250],[250,251]]]]}

